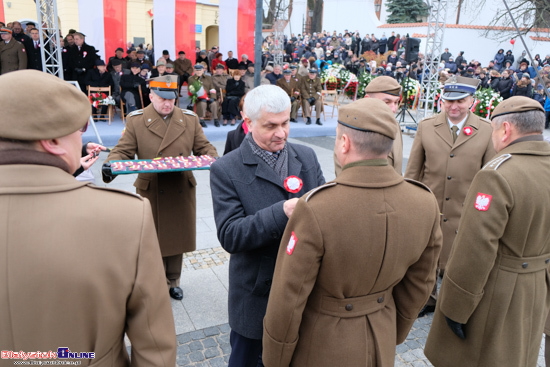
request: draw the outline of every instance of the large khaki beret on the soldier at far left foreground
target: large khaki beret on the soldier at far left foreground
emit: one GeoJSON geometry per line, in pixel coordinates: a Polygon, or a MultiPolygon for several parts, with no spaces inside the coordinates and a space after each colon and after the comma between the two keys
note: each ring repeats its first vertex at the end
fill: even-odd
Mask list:
{"type": "Polygon", "coordinates": [[[0,76],[0,137],[16,140],[61,138],[82,128],[92,105],[80,88],[38,70],[0,76]],[[32,105],[22,101],[32,98],[32,105]]]}

